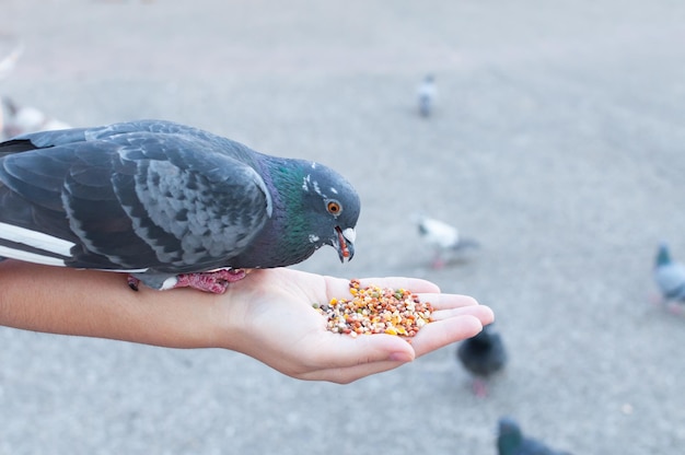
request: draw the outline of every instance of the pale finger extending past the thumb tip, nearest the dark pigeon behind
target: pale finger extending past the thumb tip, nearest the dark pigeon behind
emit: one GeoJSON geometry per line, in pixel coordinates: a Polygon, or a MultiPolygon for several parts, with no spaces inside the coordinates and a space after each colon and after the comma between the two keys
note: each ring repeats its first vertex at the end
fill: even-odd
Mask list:
{"type": "Polygon", "coordinates": [[[436,320],[421,327],[411,339],[411,346],[416,357],[420,357],[453,342],[474,337],[480,330],[483,330],[480,319],[469,314],[436,320]]]}

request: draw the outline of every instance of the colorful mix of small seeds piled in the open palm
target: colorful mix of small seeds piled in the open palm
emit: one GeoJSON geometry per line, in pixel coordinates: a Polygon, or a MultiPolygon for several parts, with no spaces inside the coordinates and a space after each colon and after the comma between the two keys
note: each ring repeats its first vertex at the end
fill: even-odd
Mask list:
{"type": "Polygon", "coordinates": [[[414,337],[430,323],[433,307],[405,289],[370,285],[361,288],[359,280],[350,281],[352,299],[332,299],[327,304],[314,304],[327,317],[328,330],[357,337],[362,334],[388,334],[414,337]]]}

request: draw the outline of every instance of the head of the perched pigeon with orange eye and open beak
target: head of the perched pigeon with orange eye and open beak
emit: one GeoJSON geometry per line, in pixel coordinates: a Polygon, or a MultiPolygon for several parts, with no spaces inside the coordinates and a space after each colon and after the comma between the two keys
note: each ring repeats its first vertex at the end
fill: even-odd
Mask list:
{"type": "Polygon", "coordinates": [[[318,163],[302,168],[301,197],[307,240],[315,248],[330,245],[341,262],[355,256],[355,226],[360,201],[352,185],[340,174],[318,163]]]}

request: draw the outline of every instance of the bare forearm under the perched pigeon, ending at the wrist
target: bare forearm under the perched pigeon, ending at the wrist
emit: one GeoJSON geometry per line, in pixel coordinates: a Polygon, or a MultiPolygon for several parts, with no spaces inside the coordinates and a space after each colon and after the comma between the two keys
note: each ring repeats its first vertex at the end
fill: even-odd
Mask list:
{"type": "Polygon", "coordinates": [[[175,348],[214,345],[216,295],[161,292],[144,287],[133,292],[121,273],[5,260],[0,325],[175,348]]]}

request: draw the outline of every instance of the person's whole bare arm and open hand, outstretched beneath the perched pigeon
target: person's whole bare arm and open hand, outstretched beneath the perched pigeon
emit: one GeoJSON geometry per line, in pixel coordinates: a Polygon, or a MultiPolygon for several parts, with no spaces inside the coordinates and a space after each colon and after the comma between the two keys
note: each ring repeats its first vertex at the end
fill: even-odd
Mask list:
{"type": "Polygon", "coordinates": [[[411,340],[351,338],[325,329],[314,302],[346,296],[348,280],[292,269],[257,270],[222,295],[194,290],[139,292],[124,275],[7,260],[0,262],[0,325],[174,348],[224,348],[292,377],[349,383],[472,337],[492,322],[490,308],[441,294],[425,280],[368,279],[406,288],[438,308],[411,340]]]}

